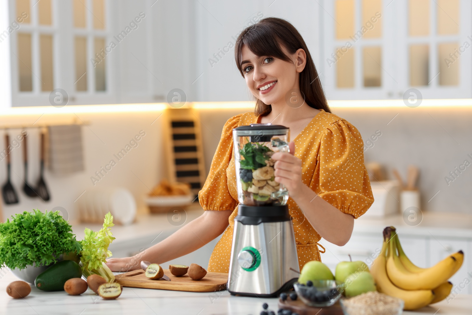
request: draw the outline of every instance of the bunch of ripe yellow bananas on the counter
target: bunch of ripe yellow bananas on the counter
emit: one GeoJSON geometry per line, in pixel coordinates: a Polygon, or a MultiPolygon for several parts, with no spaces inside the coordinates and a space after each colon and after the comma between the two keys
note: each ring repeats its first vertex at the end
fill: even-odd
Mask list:
{"type": "Polygon", "coordinates": [[[382,252],[371,267],[379,292],[401,298],[405,310],[439,302],[449,295],[452,283],[447,279],[461,267],[464,261],[462,251],[431,268],[420,268],[406,257],[394,227],[385,228],[383,234],[382,252]]]}

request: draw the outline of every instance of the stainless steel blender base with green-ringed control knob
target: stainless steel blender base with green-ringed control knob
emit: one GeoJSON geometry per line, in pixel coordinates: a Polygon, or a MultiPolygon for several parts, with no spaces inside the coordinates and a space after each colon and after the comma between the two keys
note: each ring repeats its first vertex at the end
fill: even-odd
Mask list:
{"type": "Polygon", "coordinates": [[[289,289],[299,275],[295,235],[287,205],[239,207],[233,231],[228,291],[234,295],[278,296],[289,289]],[[264,212],[275,215],[244,216],[247,208],[256,211],[268,208],[263,209],[264,212]]]}

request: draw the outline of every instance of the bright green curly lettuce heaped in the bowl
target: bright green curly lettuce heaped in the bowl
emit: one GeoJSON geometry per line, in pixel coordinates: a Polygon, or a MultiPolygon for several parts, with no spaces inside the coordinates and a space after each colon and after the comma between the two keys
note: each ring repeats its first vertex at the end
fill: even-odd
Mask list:
{"type": "Polygon", "coordinates": [[[59,211],[38,209],[17,213],[0,223],[0,266],[24,269],[27,265],[49,265],[59,255],[81,250],[72,227],[59,211]]]}

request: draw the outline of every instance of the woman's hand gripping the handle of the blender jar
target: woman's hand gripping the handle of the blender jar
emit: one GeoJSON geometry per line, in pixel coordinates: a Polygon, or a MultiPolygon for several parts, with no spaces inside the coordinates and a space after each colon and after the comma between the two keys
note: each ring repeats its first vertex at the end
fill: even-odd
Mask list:
{"type": "Polygon", "coordinates": [[[274,164],[275,181],[284,184],[289,195],[293,198],[296,192],[300,192],[303,187],[302,182],[302,161],[294,156],[295,142],[288,144],[290,153],[276,152],[272,154],[274,164]]]}

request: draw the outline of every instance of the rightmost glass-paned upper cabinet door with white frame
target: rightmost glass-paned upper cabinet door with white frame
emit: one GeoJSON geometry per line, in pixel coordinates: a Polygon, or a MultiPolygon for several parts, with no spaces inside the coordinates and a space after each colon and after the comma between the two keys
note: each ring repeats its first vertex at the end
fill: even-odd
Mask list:
{"type": "Polygon", "coordinates": [[[407,17],[398,25],[404,78],[398,93],[415,88],[423,98],[472,97],[472,1],[403,0],[395,9],[407,17]]]}

